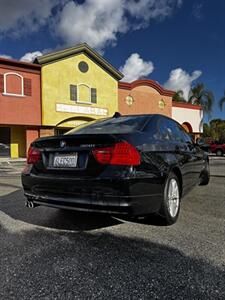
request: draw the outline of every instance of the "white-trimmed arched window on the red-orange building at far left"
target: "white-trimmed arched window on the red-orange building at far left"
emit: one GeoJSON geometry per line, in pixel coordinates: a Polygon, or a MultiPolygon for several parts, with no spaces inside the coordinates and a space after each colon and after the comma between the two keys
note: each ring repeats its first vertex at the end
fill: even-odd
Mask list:
{"type": "Polygon", "coordinates": [[[23,97],[24,96],[23,76],[14,72],[5,73],[3,95],[23,97]]]}

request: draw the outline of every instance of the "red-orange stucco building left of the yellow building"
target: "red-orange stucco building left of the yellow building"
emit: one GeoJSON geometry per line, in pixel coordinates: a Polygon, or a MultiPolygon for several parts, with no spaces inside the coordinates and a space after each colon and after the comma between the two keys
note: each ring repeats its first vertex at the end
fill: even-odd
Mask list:
{"type": "Polygon", "coordinates": [[[25,157],[41,126],[41,67],[0,58],[0,155],[25,157]]]}

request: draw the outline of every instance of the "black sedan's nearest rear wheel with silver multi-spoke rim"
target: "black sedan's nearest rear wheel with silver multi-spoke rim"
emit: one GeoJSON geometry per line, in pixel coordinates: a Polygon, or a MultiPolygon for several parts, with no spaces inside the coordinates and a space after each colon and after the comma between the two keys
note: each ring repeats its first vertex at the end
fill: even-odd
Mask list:
{"type": "Polygon", "coordinates": [[[164,196],[159,211],[165,225],[174,224],[180,212],[181,187],[177,176],[170,173],[164,187],[164,196]]]}

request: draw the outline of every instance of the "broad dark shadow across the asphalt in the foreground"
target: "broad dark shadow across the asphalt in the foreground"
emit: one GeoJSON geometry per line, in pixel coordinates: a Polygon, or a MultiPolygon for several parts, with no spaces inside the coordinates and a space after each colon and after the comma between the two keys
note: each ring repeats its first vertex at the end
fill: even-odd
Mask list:
{"type": "Polygon", "coordinates": [[[12,299],[13,295],[15,299],[225,297],[224,268],[151,239],[106,231],[3,231],[2,255],[8,251],[1,264],[2,297],[9,293],[12,299]]]}

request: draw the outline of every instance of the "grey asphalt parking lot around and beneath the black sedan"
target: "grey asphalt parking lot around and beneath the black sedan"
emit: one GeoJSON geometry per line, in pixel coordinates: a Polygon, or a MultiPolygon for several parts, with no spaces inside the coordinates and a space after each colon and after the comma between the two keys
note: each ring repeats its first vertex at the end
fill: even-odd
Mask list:
{"type": "Polygon", "coordinates": [[[178,222],[24,207],[0,169],[0,299],[225,299],[225,158],[178,222]]]}

